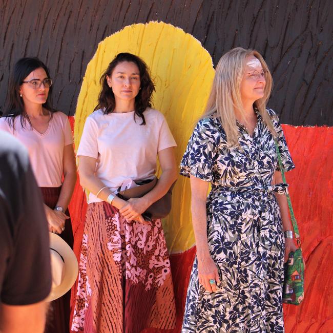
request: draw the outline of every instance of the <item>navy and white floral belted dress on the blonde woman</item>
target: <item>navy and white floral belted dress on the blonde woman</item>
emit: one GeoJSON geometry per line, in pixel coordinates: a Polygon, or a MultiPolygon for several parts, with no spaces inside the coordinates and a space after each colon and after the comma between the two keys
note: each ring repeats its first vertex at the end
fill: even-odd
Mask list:
{"type": "MultiPolygon", "coordinates": [[[[278,117],[267,110],[278,132],[285,171],[295,165],[278,117]]],[[[199,285],[194,260],[182,332],[284,332],[282,283],[284,236],[271,185],[279,170],[274,139],[256,110],[253,137],[238,123],[240,148],[230,148],[218,118],[201,119],[181,161],[181,175],[211,182],[207,197],[207,239],[221,283],[216,293],[199,285]]]]}

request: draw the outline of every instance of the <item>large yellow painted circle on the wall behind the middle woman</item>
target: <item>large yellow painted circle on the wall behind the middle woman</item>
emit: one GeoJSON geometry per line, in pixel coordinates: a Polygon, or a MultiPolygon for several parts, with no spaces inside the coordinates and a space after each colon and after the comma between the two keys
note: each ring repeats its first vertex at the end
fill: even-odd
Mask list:
{"type": "MultiPolygon", "coordinates": [[[[87,66],[78,97],[74,140],[78,147],[85,120],[97,104],[99,78],[119,52],[140,56],[156,85],[154,108],[161,111],[178,144],[180,163],[196,120],[201,116],[214,77],[210,54],[183,30],[163,22],[134,24],[105,38],[87,66]]],[[[160,172],[160,170],[158,170],[160,172]]],[[[190,213],[190,181],[179,176],[173,191],[173,208],[163,221],[171,252],[183,252],[195,243],[190,213]]]]}

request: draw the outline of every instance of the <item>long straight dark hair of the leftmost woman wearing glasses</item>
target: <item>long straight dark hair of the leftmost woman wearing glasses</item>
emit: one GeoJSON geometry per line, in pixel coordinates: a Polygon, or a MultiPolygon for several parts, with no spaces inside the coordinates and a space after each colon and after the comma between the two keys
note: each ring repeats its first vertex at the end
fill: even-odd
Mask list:
{"type": "MultiPolygon", "coordinates": [[[[14,119],[19,115],[22,115],[22,127],[25,127],[26,120],[28,120],[31,125],[29,117],[25,111],[23,99],[19,96],[19,87],[22,85],[24,79],[37,68],[43,68],[48,78],[50,78],[49,69],[45,66],[43,61],[40,61],[36,57],[20,58],[14,66],[14,71],[12,72],[9,79],[9,86],[3,114],[3,117],[8,117],[8,121],[11,120],[10,122],[13,127],[14,119]]],[[[53,109],[52,86],[49,89],[48,98],[43,104],[43,107],[51,112],[52,117],[52,113],[55,112],[53,109]]]]}

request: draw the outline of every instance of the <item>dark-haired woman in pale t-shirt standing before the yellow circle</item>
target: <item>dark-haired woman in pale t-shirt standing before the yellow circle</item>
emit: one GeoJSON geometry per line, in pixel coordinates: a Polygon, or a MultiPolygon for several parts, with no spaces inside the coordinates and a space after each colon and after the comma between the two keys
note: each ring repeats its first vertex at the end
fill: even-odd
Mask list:
{"type": "Polygon", "coordinates": [[[89,204],[80,254],[72,330],[135,333],[172,329],[176,311],[168,249],[160,220],[142,213],[177,178],[176,142],[164,116],[151,109],[155,90],[139,57],[119,53],[101,76],[98,105],[77,151],[89,204]],[[142,198],[115,196],[125,181],[154,177],[142,198]]]}

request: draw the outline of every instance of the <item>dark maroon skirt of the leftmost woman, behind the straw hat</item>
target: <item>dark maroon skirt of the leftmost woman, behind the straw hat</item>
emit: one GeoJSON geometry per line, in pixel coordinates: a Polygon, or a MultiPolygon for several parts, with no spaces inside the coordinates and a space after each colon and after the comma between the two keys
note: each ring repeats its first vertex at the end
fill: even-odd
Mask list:
{"type": "MultiPolygon", "coordinates": [[[[54,209],[57,204],[60,189],[61,187],[40,188],[44,203],[51,209],[54,209]]],[[[69,216],[68,210],[66,211],[66,215],[69,216]]],[[[65,230],[59,236],[64,239],[71,248],[73,248],[74,238],[70,219],[66,220],[65,230]]],[[[45,333],[69,333],[70,299],[71,290],[69,290],[64,296],[50,303],[45,333]]]]}

